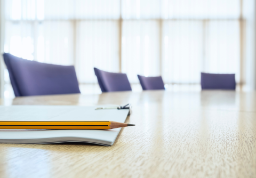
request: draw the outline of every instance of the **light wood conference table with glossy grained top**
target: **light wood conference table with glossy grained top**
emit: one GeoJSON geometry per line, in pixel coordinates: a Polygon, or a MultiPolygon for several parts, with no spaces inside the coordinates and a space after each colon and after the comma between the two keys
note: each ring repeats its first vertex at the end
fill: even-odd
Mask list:
{"type": "MultiPolygon", "coordinates": [[[[3,101],[0,101],[3,102],[3,101]]],[[[111,147],[0,144],[0,177],[256,177],[256,93],[52,95],[12,104],[132,103],[111,147]]]]}

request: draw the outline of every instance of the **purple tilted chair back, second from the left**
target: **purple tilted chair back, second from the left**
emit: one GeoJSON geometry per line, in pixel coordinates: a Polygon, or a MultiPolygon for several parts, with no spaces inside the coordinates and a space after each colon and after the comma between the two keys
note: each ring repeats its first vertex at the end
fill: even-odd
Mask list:
{"type": "Polygon", "coordinates": [[[106,72],[94,67],[102,92],[131,91],[130,82],[126,74],[106,72]]]}

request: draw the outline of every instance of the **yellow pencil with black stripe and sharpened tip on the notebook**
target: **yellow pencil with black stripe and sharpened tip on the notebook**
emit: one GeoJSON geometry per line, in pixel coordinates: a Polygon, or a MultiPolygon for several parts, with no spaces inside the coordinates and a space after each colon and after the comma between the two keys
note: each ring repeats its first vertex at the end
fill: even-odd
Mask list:
{"type": "Polygon", "coordinates": [[[99,129],[129,127],[114,121],[0,121],[0,129],[99,129]]]}

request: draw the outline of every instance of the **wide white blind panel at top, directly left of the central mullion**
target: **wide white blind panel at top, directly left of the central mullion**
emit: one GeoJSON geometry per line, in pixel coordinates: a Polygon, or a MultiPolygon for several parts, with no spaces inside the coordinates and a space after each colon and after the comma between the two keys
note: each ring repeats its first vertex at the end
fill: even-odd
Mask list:
{"type": "MultiPolygon", "coordinates": [[[[37,0],[38,1],[38,0],[37,0]]],[[[118,19],[119,0],[40,0],[48,19],[118,19]]],[[[40,8],[39,8],[40,9],[40,8]]],[[[42,10],[41,10],[42,11],[42,10]]]]}

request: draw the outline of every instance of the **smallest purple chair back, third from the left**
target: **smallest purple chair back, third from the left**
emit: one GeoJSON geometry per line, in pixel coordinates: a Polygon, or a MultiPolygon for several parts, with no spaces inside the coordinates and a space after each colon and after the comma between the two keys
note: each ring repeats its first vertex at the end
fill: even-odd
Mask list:
{"type": "Polygon", "coordinates": [[[161,76],[145,77],[138,75],[138,78],[143,90],[165,90],[164,82],[161,76]]]}

